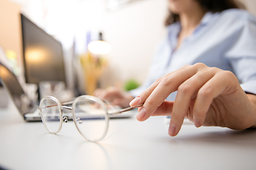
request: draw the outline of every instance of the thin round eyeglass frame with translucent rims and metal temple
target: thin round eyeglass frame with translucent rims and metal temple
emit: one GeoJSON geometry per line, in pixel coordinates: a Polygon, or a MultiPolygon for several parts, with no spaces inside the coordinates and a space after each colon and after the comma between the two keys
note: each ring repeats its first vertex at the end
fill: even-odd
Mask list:
{"type": "MultiPolygon", "coordinates": [[[[124,113],[124,112],[127,112],[127,111],[131,111],[132,109],[134,108],[140,108],[143,106],[143,104],[140,104],[138,106],[133,106],[133,107],[128,107],[128,108],[123,108],[121,110],[118,111],[115,111],[115,112],[112,112],[112,113],[109,113],[108,110],[107,110],[107,105],[110,105],[110,106],[113,106],[111,103],[109,103],[108,101],[106,101],[105,99],[100,99],[100,98],[97,98],[95,96],[90,96],[90,95],[82,95],[82,96],[78,96],[77,98],[75,98],[74,101],[68,101],[68,102],[65,102],[65,103],[60,103],[60,101],[58,100],[58,98],[55,98],[54,96],[46,96],[44,98],[41,99],[40,101],[40,104],[39,104],[39,110],[40,110],[40,113],[41,113],[41,120],[43,122],[43,125],[44,127],[46,128],[46,130],[48,130],[48,132],[50,133],[53,133],[53,134],[57,134],[58,132],[60,132],[61,128],[62,128],[62,125],[63,125],[63,122],[65,123],[68,123],[68,118],[67,116],[64,116],[63,114],[63,109],[67,109],[67,110],[70,110],[72,111],[72,119],[73,119],[73,122],[75,123],[75,128],[77,128],[78,132],[80,132],[80,135],[82,135],[82,137],[85,138],[85,140],[88,140],[88,141],[91,141],[91,142],[98,142],[100,140],[102,140],[106,135],[107,135],[107,131],[108,131],[108,127],[109,127],[109,122],[110,122],[110,115],[116,115],[116,114],[120,114],[120,113],[124,113]],[[47,125],[46,125],[46,120],[43,118],[43,113],[42,113],[42,103],[44,100],[46,100],[47,98],[55,101],[55,103],[58,104],[58,108],[60,109],[60,125],[59,125],[59,128],[56,132],[51,132],[50,130],[48,130],[47,128],[47,125]],[[90,140],[88,139],[87,137],[85,137],[82,132],[80,132],[79,128],[78,128],[78,125],[76,124],[76,121],[74,120],[75,118],[75,104],[78,103],[78,101],[80,101],[81,98],[85,98],[87,100],[90,100],[90,101],[94,101],[95,103],[100,103],[100,105],[102,106],[103,110],[105,111],[105,118],[106,118],[106,125],[105,125],[105,132],[103,133],[102,137],[98,138],[97,140],[90,140]],[[65,105],[70,105],[72,104],[72,107],[69,107],[69,106],[65,106],[65,105]]],[[[56,106],[56,105],[54,105],[56,106]]],[[[53,106],[48,106],[47,108],[49,107],[53,107],[53,106]]]]}

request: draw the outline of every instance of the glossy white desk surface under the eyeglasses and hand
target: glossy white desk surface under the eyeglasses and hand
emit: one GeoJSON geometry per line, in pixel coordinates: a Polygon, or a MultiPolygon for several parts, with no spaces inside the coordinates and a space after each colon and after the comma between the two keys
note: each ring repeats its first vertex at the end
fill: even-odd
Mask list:
{"type": "Polygon", "coordinates": [[[58,135],[26,123],[11,104],[0,111],[0,166],[6,169],[256,169],[256,130],[183,125],[169,137],[164,117],[112,119],[101,142],[73,121],[58,135]]]}

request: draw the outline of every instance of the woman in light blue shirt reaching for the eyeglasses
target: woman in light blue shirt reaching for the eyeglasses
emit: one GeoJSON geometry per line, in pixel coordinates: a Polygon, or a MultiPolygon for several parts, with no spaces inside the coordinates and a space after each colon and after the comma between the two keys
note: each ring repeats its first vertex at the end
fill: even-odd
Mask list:
{"type": "Polygon", "coordinates": [[[183,118],[196,127],[256,125],[256,18],[238,8],[232,0],[169,0],[171,25],[161,55],[146,83],[131,92],[143,91],[130,103],[144,103],[137,120],[171,115],[171,136],[183,118]]]}

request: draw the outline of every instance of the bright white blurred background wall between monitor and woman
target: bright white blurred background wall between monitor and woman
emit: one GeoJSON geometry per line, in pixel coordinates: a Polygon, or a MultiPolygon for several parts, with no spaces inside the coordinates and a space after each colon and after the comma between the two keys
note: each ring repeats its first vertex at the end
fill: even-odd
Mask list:
{"type": "Polygon", "coordinates": [[[116,11],[107,11],[104,0],[11,1],[21,4],[31,21],[59,38],[65,50],[74,36],[85,38],[88,30],[102,31],[112,45],[103,87],[122,84],[130,78],[142,83],[155,47],[165,35],[167,0],[137,1],[116,11]]]}

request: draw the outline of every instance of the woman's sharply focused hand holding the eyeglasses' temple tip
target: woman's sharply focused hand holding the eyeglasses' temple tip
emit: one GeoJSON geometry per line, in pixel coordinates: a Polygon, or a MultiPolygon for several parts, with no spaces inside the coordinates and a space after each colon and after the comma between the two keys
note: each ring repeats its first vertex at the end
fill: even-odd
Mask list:
{"type": "Polygon", "coordinates": [[[184,118],[196,127],[245,129],[256,125],[256,96],[245,94],[232,72],[201,63],[184,66],[157,79],[130,106],[142,103],[137,120],[171,115],[171,136],[178,134],[184,118]],[[175,101],[165,101],[174,91],[178,91],[175,101]]]}

